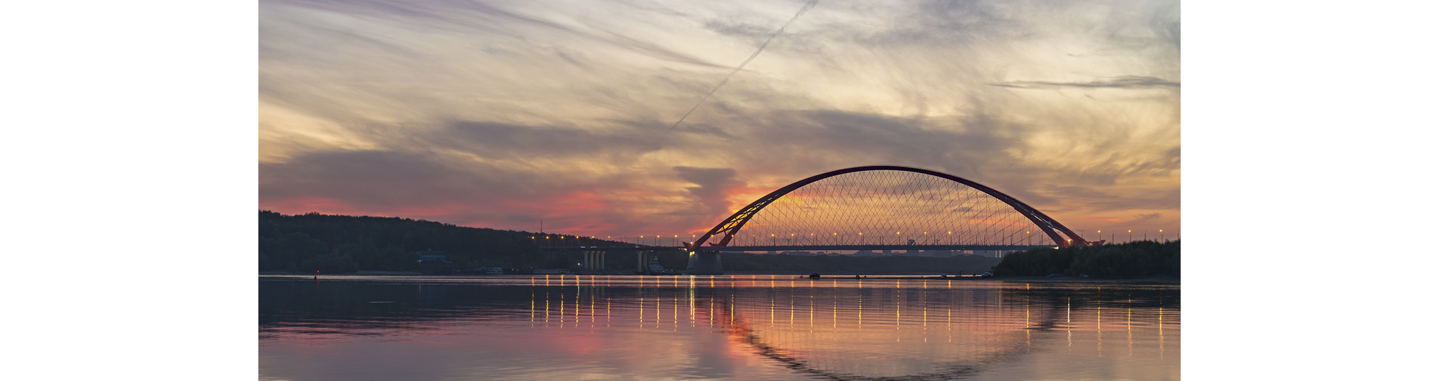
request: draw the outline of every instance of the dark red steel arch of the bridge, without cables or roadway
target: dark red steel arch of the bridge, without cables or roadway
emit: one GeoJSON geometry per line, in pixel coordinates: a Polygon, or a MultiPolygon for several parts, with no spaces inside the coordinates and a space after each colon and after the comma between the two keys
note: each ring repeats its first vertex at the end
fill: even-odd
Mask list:
{"type": "Polygon", "coordinates": [[[784,197],[790,191],[797,190],[797,188],[804,187],[804,185],[809,185],[810,183],[814,183],[814,181],[820,181],[820,180],[825,180],[825,178],[829,178],[829,177],[835,177],[835,175],[842,175],[842,174],[849,174],[849,173],[862,173],[862,171],[905,171],[905,173],[917,173],[917,174],[934,175],[934,177],[945,178],[945,180],[950,180],[950,181],[954,181],[954,183],[960,183],[960,184],[968,185],[971,188],[976,188],[979,191],[983,191],[984,194],[989,194],[990,197],[994,197],[994,198],[1003,201],[1004,204],[1009,204],[1010,207],[1014,208],[1014,211],[1019,211],[1019,214],[1023,214],[1026,219],[1029,219],[1030,221],[1033,221],[1035,226],[1039,226],[1039,230],[1043,230],[1045,234],[1048,234],[1049,239],[1053,240],[1055,244],[1058,244],[1059,247],[1097,244],[1097,242],[1085,242],[1084,237],[1081,237],[1079,234],[1075,234],[1073,230],[1069,230],[1068,227],[1065,227],[1059,221],[1055,221],[1055,219],[1050,219],[1049,216],[1045,216],[1045,213],[1040,213],[1039,210],[1035,210],[1033,207],[1030,207],[1030,206],[1027,206],[1025,203],[1020,203],[1019,200],[1014,200],[1014,197],[1009,197],[1009,194],[1000,193],[1000,191],[997,191],[994,188],[990,188],[990,187],[986,187],[986,185],[980,184],[980,183],[974,183],[974,181],[970,181],[970,180],[966,180],[966,178],[961,178],[961,177],[957,177],[957,175],[953,175],[953,174],[940,173],[940,171],[931,171],[931,170],[925,170],[925,168],[901,167],[901,165],[865,165],[865,167],[843,168],[843,170],[836,170],[836,171],[829,171],[829,173],[812,175],[809,178],[804,178],[804,180],[800,180],[800,181],[794,181],[793,184],[784,185],[783,188],[774,190],[770,194],[766,194],[764,197],[760,197],[758,200],[754,200],[754,203],[750,203],[750,206],[745,206],[740,211],[735,211],[734,214],[730,216],[730,219],[725,219],[724,221],[721,221],[720,224],[717,224],[714,229],[709,229],[708,233],[705,233],[704,236],[699,236],[699,239],[696,239],[695,242],[685,243],[685,249],[688,249],[689,252],[698,252],[701,249],[701,246],[704,246],[711,237],[715,237],[715,236],[721,236],[720,242],[718,243],[709,243],[709,246],[728,246],[730,240],[734,239],[734,234],[738,233],[740,229],[744,227],[744,224],[748,223],[750,219],[754,217],[755,213],[760,213],[760,210],[763,210],[770,203],[774,203],[774,200],[780,200],[780,197],[784,197]]]}

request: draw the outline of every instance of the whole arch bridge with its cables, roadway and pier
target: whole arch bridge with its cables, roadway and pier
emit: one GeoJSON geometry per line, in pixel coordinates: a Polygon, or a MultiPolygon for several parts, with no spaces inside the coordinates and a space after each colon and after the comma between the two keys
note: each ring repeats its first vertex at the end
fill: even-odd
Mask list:
{"type": "Polygon", "coordinates": [[[686,275],[724,275],[722,252],[1029,250],[1101,244],[1009,194],[932,170],[868,165],[774,190],[682,246],[576,246],[586,262],[612,250],[684,250],[686,275]]]}

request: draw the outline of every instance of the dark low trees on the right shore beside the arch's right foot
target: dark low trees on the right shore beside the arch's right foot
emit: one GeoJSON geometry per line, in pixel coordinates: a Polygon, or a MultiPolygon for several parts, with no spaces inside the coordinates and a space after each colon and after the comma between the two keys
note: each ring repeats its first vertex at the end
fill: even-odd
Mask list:
{"type": "Polygon", "coordinates": [[[1033,249],[1004,256],[996,276],[1078,276],[1099,279],[1179,277],[1179,242],[1033,249]]]}

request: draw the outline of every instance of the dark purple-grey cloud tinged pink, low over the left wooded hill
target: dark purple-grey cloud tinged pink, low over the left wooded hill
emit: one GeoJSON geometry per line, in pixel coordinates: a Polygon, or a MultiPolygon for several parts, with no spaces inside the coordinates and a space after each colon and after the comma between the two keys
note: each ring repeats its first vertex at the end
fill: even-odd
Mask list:
{"type": "Polygon", "coordinates": [[[625,175],[535,173],[462,155],[332,151],[260,164],[260,208],[406,216],[471,226],[532,229],[545,219],[567,233],[642,229],[625,175]]]}

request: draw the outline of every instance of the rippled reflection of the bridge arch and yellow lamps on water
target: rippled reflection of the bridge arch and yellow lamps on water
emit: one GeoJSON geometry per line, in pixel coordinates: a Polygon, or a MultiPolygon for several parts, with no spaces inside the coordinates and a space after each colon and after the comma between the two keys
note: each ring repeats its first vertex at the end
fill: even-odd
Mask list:
{"type": "Polygon", "coordinates": [[[537,326],[712,328],[754,355],[826,380],[964,378],[1027,355],[1036,339],[1059,339],[1059,332],[1071,352],[1102,357],[1107,332],[1111,342],[1124,332],[1118,342],[1134,355],[1138,329],[1141,342],[1158,341],[1163,358],[1163,325],[1177,323],[1173,309],[1164,321],[1164,299],[1177,302],[1177,289],[1163,288],[1105,293],[1079,283],[791,276],[531,282],[551,286],[537,288],[547,293],[531,302],[537,326]],[[626,292],[616,295],[617,286],[626,292]],[[1092,346],[1073,348],[1075,334],[1092,346]]]}

